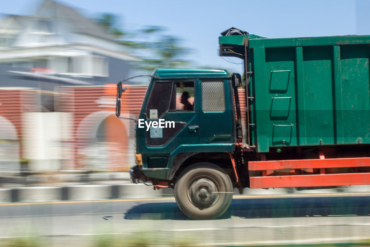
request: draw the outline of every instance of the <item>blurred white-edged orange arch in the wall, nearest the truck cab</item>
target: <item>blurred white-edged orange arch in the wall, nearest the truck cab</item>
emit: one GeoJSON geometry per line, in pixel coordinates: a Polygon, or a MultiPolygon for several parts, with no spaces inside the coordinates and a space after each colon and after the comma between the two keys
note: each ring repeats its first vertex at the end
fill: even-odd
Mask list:
{"type": "Polygon", "coordinates": [[[78,167],[127,171],[133,160],[129,158],[133,154],[129,133],[129,120],[117,118],[115,112],[98,111],[86,116],[76,131],[78,167]]]}

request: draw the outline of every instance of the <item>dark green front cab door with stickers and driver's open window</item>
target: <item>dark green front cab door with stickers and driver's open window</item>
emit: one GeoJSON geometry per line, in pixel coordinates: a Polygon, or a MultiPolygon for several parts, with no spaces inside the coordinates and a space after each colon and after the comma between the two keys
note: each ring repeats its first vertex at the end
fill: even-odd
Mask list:
{"type": "Polygon", "coordinates": [[[147,168],[167,168],[169,154],[179,145],[199,144],[199,102],[195,83],[198,81],[154,81],[143,116],[147,123],[165,122],[165,128],[145,125],[141,129],[141,136],[145,138],[142,156],[147,168]],[[183,109],[180,99],[185,91],[193,109],[183,109]]]}

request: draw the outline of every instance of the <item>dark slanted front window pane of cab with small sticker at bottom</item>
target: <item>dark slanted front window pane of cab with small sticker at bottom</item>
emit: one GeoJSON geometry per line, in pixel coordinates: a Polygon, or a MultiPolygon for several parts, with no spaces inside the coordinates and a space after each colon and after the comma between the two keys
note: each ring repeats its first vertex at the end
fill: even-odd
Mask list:
{"type": "Polygon", "coordinates": [[[154,82],[146,109],[147,119],[161,118],[162,115],[168,111],[172,86],[173,82],[154,82]],[[157,115],[157,117],[153,117],[155,115],[157,115]]]}

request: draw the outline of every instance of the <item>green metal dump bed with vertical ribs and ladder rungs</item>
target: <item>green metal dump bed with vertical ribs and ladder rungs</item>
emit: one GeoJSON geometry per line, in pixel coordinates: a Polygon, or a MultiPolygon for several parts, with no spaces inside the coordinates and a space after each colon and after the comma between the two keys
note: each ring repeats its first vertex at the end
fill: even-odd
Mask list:
{"type": "Polygon", "coordinates": [[[249,59],[250,145],[259,152],[370,143],[370,36],[219,42],[221,56],[249,59]]]}

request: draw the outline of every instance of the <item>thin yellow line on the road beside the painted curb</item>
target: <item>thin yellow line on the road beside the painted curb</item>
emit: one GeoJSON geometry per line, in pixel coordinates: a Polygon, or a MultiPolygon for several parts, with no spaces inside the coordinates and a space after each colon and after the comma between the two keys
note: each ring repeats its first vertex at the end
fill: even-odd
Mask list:
{"type": "MultiPolygon", "coordinates": [[[[242,198],[259,198],[259,197],[302,197],[302,196],[319,196],[319,195],[370,195],[370,192],[362,193],[326,193],[326,194],[288,194],[288,195],[234,195],[235,199],[242,198]]],[[[175,198],[149,198],[149,199],[119,199],[119,200],[91,200],[91,201],[52,201],[52,202],[20,202],[20,203],[3,203],[0,206],[11,205],[40,205],[40,204],[65,204],[65,203],[87,203],[87,202],[123,202],[123,201],[170,201],[175,198]]]]}

